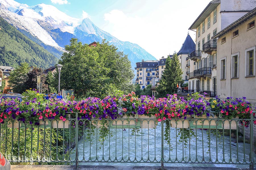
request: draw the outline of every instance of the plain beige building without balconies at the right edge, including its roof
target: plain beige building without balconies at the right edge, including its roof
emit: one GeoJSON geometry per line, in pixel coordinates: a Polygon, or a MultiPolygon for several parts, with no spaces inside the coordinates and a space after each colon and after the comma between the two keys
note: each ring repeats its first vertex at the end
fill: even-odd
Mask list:
{"type": "Polygon", "coordinates": [[[256,103],[256,8],[219,31],[217,39],[217,95],[247,97],[256,103]]]}

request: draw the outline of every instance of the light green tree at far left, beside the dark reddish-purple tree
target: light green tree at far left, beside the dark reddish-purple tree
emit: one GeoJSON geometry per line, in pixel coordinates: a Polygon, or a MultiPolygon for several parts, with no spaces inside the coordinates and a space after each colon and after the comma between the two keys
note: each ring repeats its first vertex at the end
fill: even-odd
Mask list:
{"type": "Polygon", "coordinates": [[[9,84],[11,85],[14,93],[21,94],[29,88],[26,84],[29,69],[28,63],[25,62],[21,63],[19,67],[10,73],[9,84]]]}

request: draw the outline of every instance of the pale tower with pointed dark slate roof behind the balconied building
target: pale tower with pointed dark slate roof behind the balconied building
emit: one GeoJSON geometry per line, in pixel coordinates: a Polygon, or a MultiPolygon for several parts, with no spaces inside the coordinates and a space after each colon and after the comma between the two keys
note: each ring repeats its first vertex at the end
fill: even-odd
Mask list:
{"type": "Polygon", "coordinates": [[[189,69],[190,65],[187,64],[187,55],[190,54],[195,50],[195,42],[192,40],[189,34],[187,34],[187,37],[182,44],[179,52],[177,53],[179,62],[181,64],[181,69],[183,71],[182,74],[182,80],[184,80],[184,83],[188,82],[188,76],[187,76],[187,69],[189,69]]]}

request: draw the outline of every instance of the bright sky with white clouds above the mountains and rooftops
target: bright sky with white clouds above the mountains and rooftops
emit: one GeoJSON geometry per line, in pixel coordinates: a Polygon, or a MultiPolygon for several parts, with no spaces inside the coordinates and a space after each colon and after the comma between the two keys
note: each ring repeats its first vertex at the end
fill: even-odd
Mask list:
{"type": "MultiPolygon", "coordinates": [[[[136,43],[157,59],[178,52],[189,26],[208,0],[15,0],[29,6],[53,5],[75,18],[87,16],[100,29],[136,43]],[[83,12],[84,11],[84,12],[83,12]]],[[[189,31],[192,39],[195,32],[189,31]]]]}

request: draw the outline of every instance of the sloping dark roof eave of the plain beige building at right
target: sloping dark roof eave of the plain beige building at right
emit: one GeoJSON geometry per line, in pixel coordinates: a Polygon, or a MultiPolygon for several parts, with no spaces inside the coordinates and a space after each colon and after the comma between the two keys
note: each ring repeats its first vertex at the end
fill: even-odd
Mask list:
{"type": "Polygon", "coordinates": [[[245,14],[244,16],[242,16],[241,18],[239,18],[238,20],[233,22],[232,24],[228,25],[226,28],[222,29],[220,32],[218,32],[216,35],[214,35],[212,38],[218,38],[218,37],[224,35],[226,32],[230,31],[237,25],[242,24],[243,22],[245,22],[246,20],[248,20],[249,18],[251,18],[255,15],[256,15],[256,8],[254,8],[253,10],[251,10],[250,12],[248,12],[247,14],[245,14]]]}

